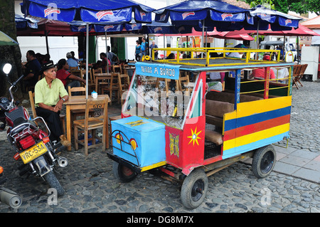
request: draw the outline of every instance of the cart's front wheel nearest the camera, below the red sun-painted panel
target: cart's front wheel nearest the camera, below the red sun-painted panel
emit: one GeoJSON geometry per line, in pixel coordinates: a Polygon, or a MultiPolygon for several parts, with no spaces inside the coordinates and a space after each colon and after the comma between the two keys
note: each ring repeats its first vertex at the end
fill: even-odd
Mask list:
{"type": "Polygon", "coordinates": [[[181,187],[181,201],[186,208],[197,208],[206,198],[208,177],[203,169],[196,169],[184,179],[181,187]]]}

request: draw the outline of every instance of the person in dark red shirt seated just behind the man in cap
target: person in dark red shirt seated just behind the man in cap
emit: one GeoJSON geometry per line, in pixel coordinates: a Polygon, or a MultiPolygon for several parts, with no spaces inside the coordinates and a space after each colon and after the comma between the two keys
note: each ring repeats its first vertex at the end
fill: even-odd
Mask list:
{"type": "MultiPolygon", "coordinates": [[[[70,68],[68,61],[65,58],[62,58],[58,61],[58,71],[57,71],[57,78],[60,79],[65,86],[65,90],[68,91],[68,87],[80,87],[81,82],[85,84],[85,80],[78,77],[77,75],[71,74],[68,70],[70,68]],[[68,83],[68,80],[71,80],[68,83]]],[[[75,94],[78,95],[78,94],[75,94]]]]}

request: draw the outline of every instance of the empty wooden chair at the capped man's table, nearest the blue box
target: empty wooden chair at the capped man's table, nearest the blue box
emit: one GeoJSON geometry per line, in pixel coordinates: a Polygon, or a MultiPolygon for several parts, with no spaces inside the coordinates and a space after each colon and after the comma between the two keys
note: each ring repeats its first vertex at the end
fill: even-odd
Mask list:
{"type": "Polygon", "coordinates": [[[107,98],[104,99],[87,99],[85,107],[85,119],[75,120],[73,125],[75,127],[75,150],[79,149],[79,144],[85,147],[85,155],[88,154],[88,149],[92,147],[99,147],[102,145],[102,151],[105,151],[106,144],[109,148],[109,136],[107,127],[107,98]],[[89,116],[89,112],[94,112],[93,117],[89,116]],[[102,111],[101,111],[102,110],[102,111]],[[102,128],[102,137],[97,137],[95,130],[102,128]],[[81,130],[85,133],[83,139],[78,139],[78,132],[81,130]],[[92,132],[92,137],[89,139],[89,132],[92,132]],[[100,140],[100,144],[96,144],[95,139],[100,140]],[[92,144],[89,145],[89,140],[92,140],[92,144]]]}

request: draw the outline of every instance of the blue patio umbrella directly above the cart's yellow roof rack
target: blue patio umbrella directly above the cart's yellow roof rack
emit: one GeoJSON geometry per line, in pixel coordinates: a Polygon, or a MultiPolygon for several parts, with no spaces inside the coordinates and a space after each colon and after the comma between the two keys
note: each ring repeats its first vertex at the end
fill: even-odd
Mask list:
{"type": "MultiPolygon", "coordinates": [[[[243,27],[246,19],[247,9],[214,0],[188,0],[162,9],[155,10],[155,21],[166,23],[171,19],[171,23],[176,26],[194,26],[196,31],[199,27],[204,33],[207,31],[234,31],[243,27]]],[[[202,38],[203,46],[203,38],[202,38]]]]}

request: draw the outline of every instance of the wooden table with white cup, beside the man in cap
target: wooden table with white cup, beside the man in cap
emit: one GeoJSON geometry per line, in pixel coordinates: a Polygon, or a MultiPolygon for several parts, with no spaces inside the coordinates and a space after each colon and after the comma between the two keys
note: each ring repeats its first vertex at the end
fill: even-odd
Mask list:
{"type": "MultiPolygon", "coordinates": [[[[107,97],[107,101],[111,102],[109,95],[98,95],[97,99],[103,99],[107,97]]],[[[87,97],[88,99],[92,99],[91,96],[87,97]]],[[[85,95],[74,95],[74,96],[69,96],[69,100],[64,102],[63,104],[66,107],[66,118],[67,118],[67,139],[69,142],[71,142],[71,110],[85,110],[85,95]]],[[[108,119],[108,116],[106,116],[108,119]]],[[[106,122],[107,127],[108,127],[108,122],[106,122]]],[[[108,130],[107,130],[108,132],[108,130]]],[[[106,134],[106,138],[109,137],[108,133],[106,134]]],[[[106,139],[106,141],[108,141],[106,139]]],[[[109,149],[109,143],[106,142],[106,147],[109,149]]],[[[67,148],[68,151],[71,150],[71,146],[67,148]]]]}

